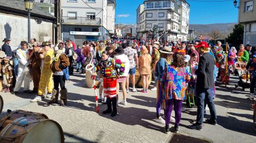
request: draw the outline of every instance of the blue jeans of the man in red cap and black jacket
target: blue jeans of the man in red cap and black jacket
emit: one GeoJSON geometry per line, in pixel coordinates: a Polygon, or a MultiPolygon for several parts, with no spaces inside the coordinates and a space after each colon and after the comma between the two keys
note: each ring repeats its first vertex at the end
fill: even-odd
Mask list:
{"type": "Polygon", "coordinates": [[[211,88],[208,89],[197,89],[197,116],[196,121],[198,124],[203,124],[204,120],[204,103],[206,103],[210,109],[211,120],[217,119],[217,113],[213,102],[213,96],[211,95],[211,88]]]}

